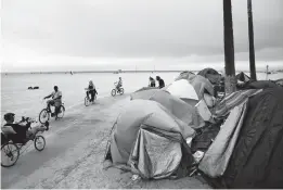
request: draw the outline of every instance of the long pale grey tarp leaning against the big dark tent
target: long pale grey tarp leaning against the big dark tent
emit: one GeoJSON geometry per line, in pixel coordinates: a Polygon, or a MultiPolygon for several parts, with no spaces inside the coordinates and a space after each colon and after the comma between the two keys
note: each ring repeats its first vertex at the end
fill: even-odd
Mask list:
{"type": "Polygon", "coordinates": [[[246,114],[246,102],[247,100],[231,111],[198,165],[202,172],[213,178],[222,176],[226,172],[246,114]]]}

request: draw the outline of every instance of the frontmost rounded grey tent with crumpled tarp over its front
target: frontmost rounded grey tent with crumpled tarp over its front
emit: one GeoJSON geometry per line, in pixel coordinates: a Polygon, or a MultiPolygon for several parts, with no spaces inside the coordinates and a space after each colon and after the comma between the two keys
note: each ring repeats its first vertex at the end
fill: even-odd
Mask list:
{"type": "Polygon", "coordinates": [[[183,177],[194,161],[184,139],[194,135],[160,103],[132,100],[114,124],[104,159],[145,179],[183,177]]]}

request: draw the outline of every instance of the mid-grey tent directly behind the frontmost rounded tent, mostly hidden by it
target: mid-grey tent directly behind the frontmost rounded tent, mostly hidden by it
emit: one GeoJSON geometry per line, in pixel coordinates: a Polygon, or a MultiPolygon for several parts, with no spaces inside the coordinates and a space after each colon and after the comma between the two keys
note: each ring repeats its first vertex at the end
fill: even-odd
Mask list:
{"type": "Polygon", "coordinates": [[[160,103],[168,112],[194,129],[201,128],[205,125],[203,118],[193,105],[171,96],[166,90],[152,89],[132,93],[131,100],[137,99],[152,100],[160,103]]]}

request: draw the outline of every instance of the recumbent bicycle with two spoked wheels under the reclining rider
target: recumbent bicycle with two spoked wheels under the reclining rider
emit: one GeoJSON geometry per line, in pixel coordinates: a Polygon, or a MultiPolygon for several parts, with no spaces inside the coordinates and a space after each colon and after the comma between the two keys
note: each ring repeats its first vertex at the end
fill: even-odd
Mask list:
{"type": "MultiPolygon", "coordinates": [[[[29,117],[24,119],[28,123],[35,123],[35,121],[30,119],[29,117]]],[[[49,122],[46,122],[44,126],[49,127],[49,122]]],[[[1,166],[11,167],[15,165],[20,155],[31,145],[30,143],[24,151],[22,151],[22,153],[20,152],[28,141],[34,141],[34,145],[37,151],[43,151],[46,148],[46,139],[43,136],[38,134],[39,132],[37,132],[33,138],[16,139],[13,134],[4,135],[1,132],[1,166]],[[8,157],[7,160],[4,159],[5,156],[8,157]]]]}

